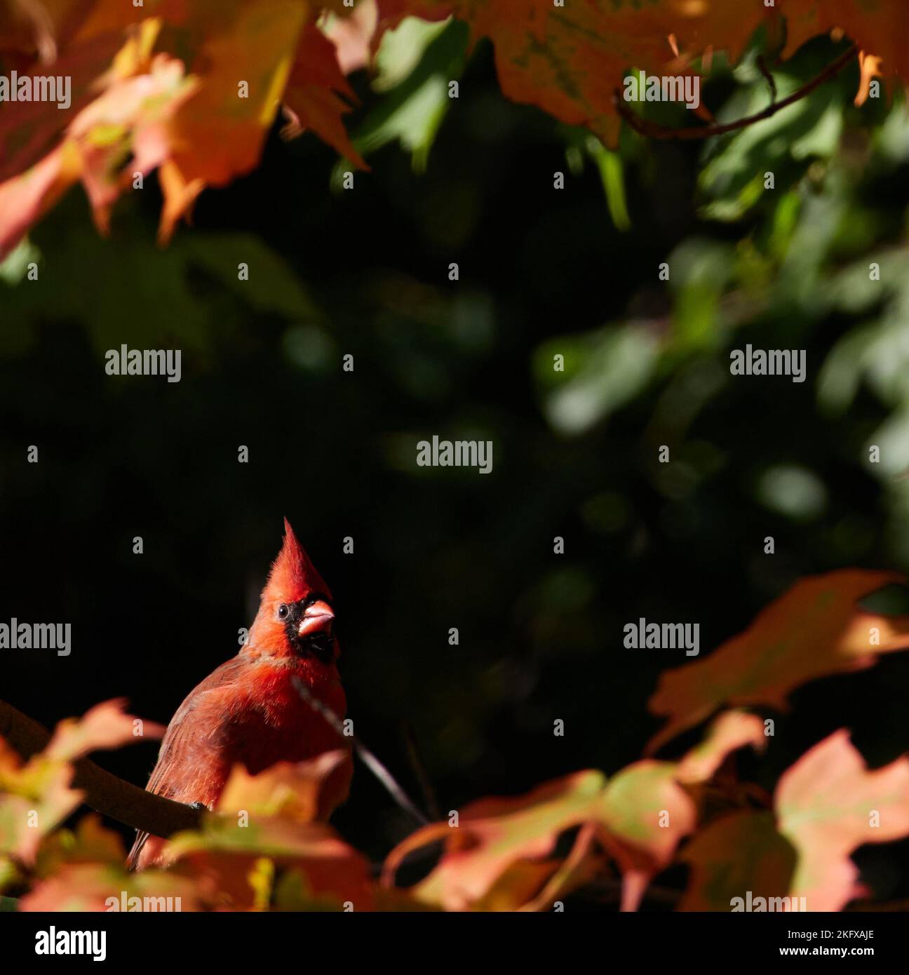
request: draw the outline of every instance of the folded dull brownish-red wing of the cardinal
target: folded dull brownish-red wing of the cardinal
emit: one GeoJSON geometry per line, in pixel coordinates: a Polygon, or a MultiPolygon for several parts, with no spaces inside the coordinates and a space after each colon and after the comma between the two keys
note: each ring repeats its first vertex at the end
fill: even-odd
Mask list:
{"type": "MultiPolygon", "coordinates": [[[[246,667],[248,661],[234,657],[187,695],[168,725],[158,761],[145,787],[147,792],[178,802],[208,805],[214,801],[222,771],[218,753],[234,717],[233,711],[222,707],[221,702],[227,696],[225,691],[236,690],[246,667]]],[[[242,706],[242,697],[232,696],[234,707],[242,706]]],[[[130,870],[136,868],[148,836],[138,834],[127,858],[130,870]]]]}

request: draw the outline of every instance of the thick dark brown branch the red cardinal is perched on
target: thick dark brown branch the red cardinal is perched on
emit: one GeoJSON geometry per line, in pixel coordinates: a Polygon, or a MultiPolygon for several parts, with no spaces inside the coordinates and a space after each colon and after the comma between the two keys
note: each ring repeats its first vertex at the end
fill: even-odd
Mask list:
{"type": "MultiPolygon", "coordinates": [[[[43,725],[12,705],[0,701],[0,738],[4,738],[23,761],[44,750],[51,733],[43,725]]],[[[132,782],[99,768],[94,761],[73,762],[74,789],[85,793],[87,805],[126,826],[167,839],[181,830],[197,830],[202,813],[182,802],[164,799],[139,789],[132,782]]]]}

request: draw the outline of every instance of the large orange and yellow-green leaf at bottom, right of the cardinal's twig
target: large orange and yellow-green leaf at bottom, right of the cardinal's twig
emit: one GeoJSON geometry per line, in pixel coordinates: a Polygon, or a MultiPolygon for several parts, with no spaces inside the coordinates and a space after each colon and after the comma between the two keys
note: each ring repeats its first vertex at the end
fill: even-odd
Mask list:
{"type": "Polygon", "coordinates": [[[697,810],[682,783],[709,778],[733,749],[748,743],[763,745],[762,722],[732,713],[721,716],[681,763],[638,761],[608,782],[598,771],[576,772],[517,799],[472,802],[460,810],[456,826],[433,823],[392,850],[383,883],[393,882],[408,854],[444,840],[436,867],[409,891],[417,903],[447,911],[495,905],[544,910],[591,876],[599,865],[592,845],[597,839],[622,871],[622,910],[633,911],[650,879],[694,829],[697,810]],[[580,832],[560,867],[550,859],[552,851],[574,827],[580,832]]]}

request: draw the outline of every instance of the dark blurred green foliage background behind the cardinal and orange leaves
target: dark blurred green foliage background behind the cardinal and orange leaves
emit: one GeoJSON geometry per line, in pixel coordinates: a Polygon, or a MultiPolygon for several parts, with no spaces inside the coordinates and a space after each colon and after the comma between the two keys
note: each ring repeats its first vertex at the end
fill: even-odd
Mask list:
{"type": "MultiPolygon", "coordinates": [[[[447,813],[640,757],[685,657],[625,649],[625,623],[697,622],[705,653],[800,576],[909,570],[902,98],[856,108],[853,65],[733,137],[611,151],[503,99],[492,49],[465,44],[408,21],[352,76],[372,167],[352,190],[331,149],[276,126],[166,250],[149,179],[109,239],[73,192],[0,267],[2,615],[73,626],[68,658],[0,651],[4,699],[50,725],[126,696],[167,722],[236,652],[286,515],[335,593],[356,731],[426,806],[415,740],[447,813]],[[181,382],[107,376],[122,342],[180,348],[181,382]],[[731,376],[746,342],[806,349],[808,380],[731,376]],[[416,467],[433,434],[493,440],[494,472],[416,467]]],[[[715,62],[720,120],[767,103],[760,48],[715,62]]],[[[777,65],[780,97],[842,49],[777,65]]],[[[909,655],[792,704],[743,775],[771,787],[843,726],[892,761],[909,655]]],[[[143,784],[155,752],[100,762],[143,784]]],[[[336,819],[376,859],[411,829],[362,767],[336,819]]],[[[909,844],[857,859],[876,896],[909,896],[909,844]]]]}

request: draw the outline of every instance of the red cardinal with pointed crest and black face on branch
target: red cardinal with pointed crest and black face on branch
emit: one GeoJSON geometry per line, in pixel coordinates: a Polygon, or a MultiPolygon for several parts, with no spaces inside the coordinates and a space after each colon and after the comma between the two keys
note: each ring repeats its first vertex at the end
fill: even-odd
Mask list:
{"type": "MultiPolygon", "coordinates": [[[[303,761],[344,748],[343,738],[292,683],[298,678],[344,717],[334,621],[332,594],[285,519],[284,545],[262,590],[249,641],[179,706],[148,792],[211,809],[235,762],[255,775],[276,761],[303,761]]],[[[324,784],[324,818],[347,798],[352,770],[348,759],[324,784]]],[[[163,845],[163,839],[140,833],[128,865],[160,863],[163,845]]]]}

